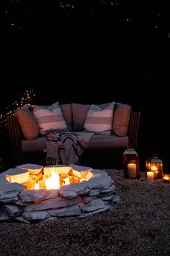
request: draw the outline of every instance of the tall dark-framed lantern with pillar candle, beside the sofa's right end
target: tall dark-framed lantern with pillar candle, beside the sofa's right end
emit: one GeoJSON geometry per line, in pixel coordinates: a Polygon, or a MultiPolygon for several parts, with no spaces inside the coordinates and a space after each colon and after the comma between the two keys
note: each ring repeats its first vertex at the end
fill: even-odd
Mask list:
{"type": "Polygon", "coordinates": [[[123,153],[123,166],[125,179],[139,179],[139,155],[133,145],[128,145],[123,153]]]}

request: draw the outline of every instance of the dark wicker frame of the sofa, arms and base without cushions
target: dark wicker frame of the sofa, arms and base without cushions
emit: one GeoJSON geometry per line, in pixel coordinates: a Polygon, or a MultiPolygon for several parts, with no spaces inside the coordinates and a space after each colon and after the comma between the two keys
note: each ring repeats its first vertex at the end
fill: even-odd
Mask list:
{"type": "MultiPolygon", "coordinates": [[[[22,131],[19,127],[16,114],[9,116],[7,120],[9,130],[9,140],[12,150],[13,167],[23,163],[35,163],[42,166],[46,165],[46,153],[22,152],[22,131]]],[[[140,112],[132,111],[128,127],[129,145],[134,145],[138,150],[138,132],[140,127],[140,112]]],[[[123,152],[125,148],[87,148],[79,159],[81,166],[90,166],[92,168],[122,168],[123,152]]]]}

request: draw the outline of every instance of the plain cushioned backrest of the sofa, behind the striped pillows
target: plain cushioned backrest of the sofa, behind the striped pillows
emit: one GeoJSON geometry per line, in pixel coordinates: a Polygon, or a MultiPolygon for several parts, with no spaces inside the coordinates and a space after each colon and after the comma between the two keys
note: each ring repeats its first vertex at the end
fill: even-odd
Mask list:
{"type": "MultiPolygon", "coordinates": [[[[107,106],[108,103],[98,105],[99,107],[107,106]]],[[[61,111],[66,120],[70,132],[81,132],[84,130],[86,114],[91,105],[71,103],[61,104],[61,111]]],[[[45,106],[48,108],[48,106],[45,106]]],[[[117,136],[126,136],[130,120],[131,106],[128,104],[115,103],[114,116],[112,122],[112,132],[117,136]]],[[[28,108],[21,108],[17,111],[19,125],[22,133],[27,140],[34,140],[38,135],[38,124],[34,115],[28,108]]]]}

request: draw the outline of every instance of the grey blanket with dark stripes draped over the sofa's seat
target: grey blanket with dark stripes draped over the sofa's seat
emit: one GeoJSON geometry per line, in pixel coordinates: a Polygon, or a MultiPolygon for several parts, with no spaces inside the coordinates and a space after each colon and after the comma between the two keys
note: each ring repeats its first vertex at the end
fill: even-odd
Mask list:
{"type": "Polygon", "coordinates": [[[89,145],[93,132],[50,132],[47,137],[47,164],[76,163],[89,145]]]}

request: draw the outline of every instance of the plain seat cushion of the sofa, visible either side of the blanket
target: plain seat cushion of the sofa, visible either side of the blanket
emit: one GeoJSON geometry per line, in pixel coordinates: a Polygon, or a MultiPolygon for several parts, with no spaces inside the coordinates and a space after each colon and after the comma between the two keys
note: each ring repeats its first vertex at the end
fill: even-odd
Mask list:
{"type": "MultiPolygon", "coordinates": [[[[116,135],[94,135],[89,141],[88,148],[126,148],[128,136],[118,137],[116,135]]],[[[47,150],[47,138],[37,137],[36,140],[22,140],[23,152],[37,152],[47,150]]]]}

